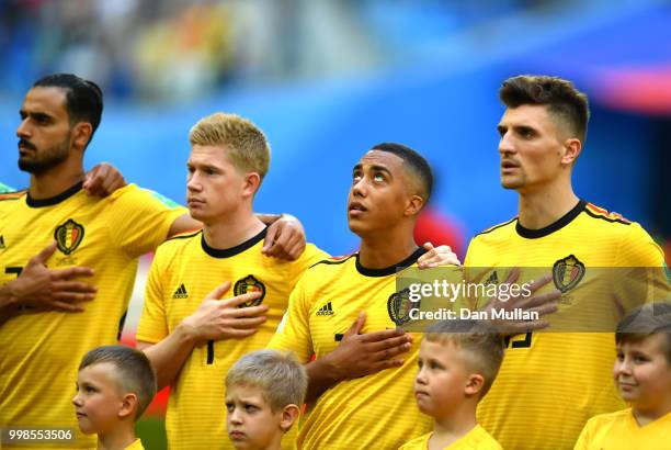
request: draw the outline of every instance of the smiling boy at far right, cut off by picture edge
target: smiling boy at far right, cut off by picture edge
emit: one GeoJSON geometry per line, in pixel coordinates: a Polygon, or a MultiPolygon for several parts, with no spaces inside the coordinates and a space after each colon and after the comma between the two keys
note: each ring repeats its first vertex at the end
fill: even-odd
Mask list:
{"type": "Polygon", "coordinates": [[[640,306],[615,333],[613,378],[630,407],[592,417],[576,449],[671,448],[671,303],[640,306]]]}

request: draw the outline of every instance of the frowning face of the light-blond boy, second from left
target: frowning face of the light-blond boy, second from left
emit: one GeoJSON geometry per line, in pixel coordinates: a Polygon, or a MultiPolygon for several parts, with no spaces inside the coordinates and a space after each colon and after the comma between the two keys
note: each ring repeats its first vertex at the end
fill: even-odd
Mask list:
{"type": "Polygon", "coordinates": [[[226,427],[236,449],[264,449],[282,439],[282,410],[273,413],[258,386],[232,385],[226,390],[226,427]]]}

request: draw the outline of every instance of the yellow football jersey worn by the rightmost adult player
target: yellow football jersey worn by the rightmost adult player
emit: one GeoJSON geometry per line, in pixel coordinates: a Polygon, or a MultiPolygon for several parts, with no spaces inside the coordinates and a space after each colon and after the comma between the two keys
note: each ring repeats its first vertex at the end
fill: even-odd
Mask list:
{"type": "MultiPolygon", "coordinates": [[[[546,228],[526,229],[515,218],[471,240],[465,266],[494,268],[488,277],[498,282],[507,278],[498,271],[512,267],[523,268],[521,281],[551,274],[553,282],[539,292],[562,292],[547,331],[509,340],[501,370],[478,407],[478,421],[503,448],[571,449],[588,418],[624,407],[611,374],[614,335],[606,331],[614,331],[626,310],[653,299],[646,280],[617,277],[628,273],[622,268],[662,265],[661,249],[638,224],[584,201],[546,228]]],[[[658,272],[658,295],[668,295],[668,280],[658,272]]]]}

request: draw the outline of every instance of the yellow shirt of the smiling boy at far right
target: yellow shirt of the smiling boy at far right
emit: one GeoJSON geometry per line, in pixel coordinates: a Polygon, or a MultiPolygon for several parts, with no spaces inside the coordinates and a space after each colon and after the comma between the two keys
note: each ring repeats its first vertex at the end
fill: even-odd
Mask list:
{"type": "Polygon", "coordinates": [[[632,408],[592,417],[575,450],[671,450],[671,413],[641,427],[632,408]]]}

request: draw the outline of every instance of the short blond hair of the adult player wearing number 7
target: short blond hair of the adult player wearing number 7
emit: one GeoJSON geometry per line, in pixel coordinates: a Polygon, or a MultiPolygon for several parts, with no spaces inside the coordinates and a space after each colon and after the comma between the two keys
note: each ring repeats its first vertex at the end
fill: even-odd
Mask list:
{"type": "Polygon", "coordinates": [[[201,119],[189,132],[191,145],[225,147],[231,164],[240,171],[259,173],[270,166],[270,145],[263,132],[237,114],[215,113],[201,119]]]}

